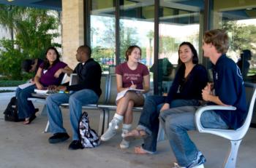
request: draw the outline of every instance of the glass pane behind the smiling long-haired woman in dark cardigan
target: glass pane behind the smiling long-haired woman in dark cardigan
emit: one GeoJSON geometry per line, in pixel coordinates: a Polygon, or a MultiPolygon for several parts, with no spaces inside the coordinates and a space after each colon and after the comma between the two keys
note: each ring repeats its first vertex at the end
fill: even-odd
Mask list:
{"type": "Polygon", "coordinates": [[[189,41],[200,53],[200,25],[203,25],[203,0],[161,0],[159,7],[158,94],[170,88],[178,64],[178,46],[189,41]]]}

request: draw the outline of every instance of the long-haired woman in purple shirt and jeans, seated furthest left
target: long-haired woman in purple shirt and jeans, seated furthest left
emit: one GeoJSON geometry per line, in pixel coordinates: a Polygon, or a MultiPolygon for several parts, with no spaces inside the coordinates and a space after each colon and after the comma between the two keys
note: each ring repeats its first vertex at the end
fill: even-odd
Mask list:
{"type": "Polygon", "coordinates": [[[49,47],[45,54],[45,62],[39,65],[37,74],[34,77],[35,85],[26,87],[16,92],[18,100],[19,118],[25,119],[23,124],[30,124],[36,118],[35,108],[27,98],[31,97],[34,89],[43,89],[50,85],[59,85],[63,78],[64,72],[72,72],[72,69],[66,63],[59,60],[59,52],[55,47],[49,47]],[[62,74],[61,74],[62,73],[62,74]]]}

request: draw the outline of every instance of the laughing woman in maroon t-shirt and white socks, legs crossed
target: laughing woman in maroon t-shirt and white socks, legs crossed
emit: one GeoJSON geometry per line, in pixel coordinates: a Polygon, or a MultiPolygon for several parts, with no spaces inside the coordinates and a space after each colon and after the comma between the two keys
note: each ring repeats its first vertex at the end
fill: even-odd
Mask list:
{"type": "MultiPolygon", "coordinates": [[[[116,67],[116,84],[118,93],[129,89],[143,89],[143,93],[149,91],[149,71],[146,65],[139,63],[141,49],[138,46],[130,46],[126,52],[127,62],[116,67]]],[[[117,100],[116,113],[110,121],[108,130],[102,135],[101,140],[107,141],[116,135],[118,124],[124,120],[121,136],[129,132],[132,127],[132,108],[144,103],[143,94],[128,91],[124,97],[117,100]]],[[[128,148],[129,142],[122,140],[121,148],[128,148]]]]}

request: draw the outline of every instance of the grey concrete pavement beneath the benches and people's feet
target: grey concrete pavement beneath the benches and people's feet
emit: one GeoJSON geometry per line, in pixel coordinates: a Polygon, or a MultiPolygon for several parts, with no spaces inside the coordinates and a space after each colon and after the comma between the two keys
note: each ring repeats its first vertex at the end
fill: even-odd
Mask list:
{"type": "MultiPolygon", "coordinates": [[[[68,145],[71,139],[64,143],[49,144],[50,134],[42,133],[47,117],[37,116],[30,125],[23,125],[18,122],[4,121],[2,115],[12,93],[0,94],[0,168],[170,168],[173,161],[176,161],[167,140],[158,143],[157,154],[136,155],[133,153],[135,145],[140,145],[142,140],[135,140],[130,148],[121,150],[118,144],[121,142],[121,131],[108,142],[103,142],[97,148],[86,148],[78,151],[69,151],[68,145]]],[[[35,104],[42,108],[42,105],[35,104]]],[[[91,128],[96,129],[99,123],[99,113],[89,112],[91,128]]],[[[63,110],[64,127],[69,135],[72,135],[69,126],[69,111],[63,110]]],[[[113,115],[113,112],[111,113],[113,115]]],[[[138,123],[140,113],[135,113],[135,124],[138,123]]],[[[206,156],[206,168],[220,168],[225,159],[225,153],[230,143],[223,138],[189,132],[192,140],[206,156]]],[[[256,153],[256,129],[250,129],[241,143],[238,154],[237,168],[254,168],[256,153]]]]}

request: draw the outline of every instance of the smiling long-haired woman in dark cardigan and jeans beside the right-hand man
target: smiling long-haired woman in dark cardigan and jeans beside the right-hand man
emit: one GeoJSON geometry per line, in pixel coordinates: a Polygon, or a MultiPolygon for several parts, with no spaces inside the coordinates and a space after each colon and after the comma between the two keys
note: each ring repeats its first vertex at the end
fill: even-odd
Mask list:
{"type": "Polygon", "coordinates": [[[167,97],[150,96],[146,98],[138,127],[129,132],[126,140],[144,137],[144,143],[135,147],[135,153],[154,153],[157,151],[159,112],[184,105],[200,105],[201,92],[208,81],[208,73],[198,64],[197,51],[189,42],[178,47],[178,71],[167,97]]]}

